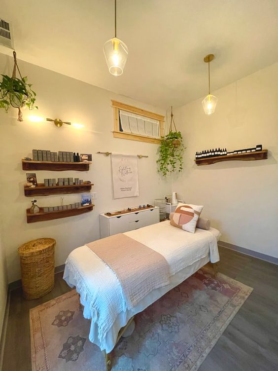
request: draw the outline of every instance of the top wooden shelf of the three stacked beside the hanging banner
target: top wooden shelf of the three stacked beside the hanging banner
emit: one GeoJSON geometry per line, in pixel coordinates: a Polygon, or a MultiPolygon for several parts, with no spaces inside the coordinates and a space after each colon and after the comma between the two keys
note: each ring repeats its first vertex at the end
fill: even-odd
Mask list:
{"type": "Polygon", "coordinates": [[[22,170],[51,170],[51,171],[88,171],[92,162],[50,162],[22,160],[22,170]]]}

